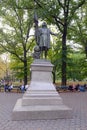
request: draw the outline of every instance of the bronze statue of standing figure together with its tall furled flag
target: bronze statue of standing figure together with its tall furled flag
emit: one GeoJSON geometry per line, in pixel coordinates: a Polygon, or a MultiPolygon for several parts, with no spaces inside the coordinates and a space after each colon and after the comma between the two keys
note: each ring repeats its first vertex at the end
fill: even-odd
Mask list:
{"type": "MultiPolygon", "coordinates": [[[[37,46],[40,48],[40,54],[39,53],[38,54],[43,55],[44,53],[44,57],[46,59],[47,52],[50,49],[50,34],[55,35],[55,36],[57,36],[58,34],[51,32],[50,29],[47,28],[46,22],[43,22],[42,27],[39,28],[38,17],[37,17],[36,12],[34,14],[34,23],[35,23],[35,40],[36,40],[37,46]]],[[[40,57],[40,56],[37,56],[37,57],[40,57]]]]}

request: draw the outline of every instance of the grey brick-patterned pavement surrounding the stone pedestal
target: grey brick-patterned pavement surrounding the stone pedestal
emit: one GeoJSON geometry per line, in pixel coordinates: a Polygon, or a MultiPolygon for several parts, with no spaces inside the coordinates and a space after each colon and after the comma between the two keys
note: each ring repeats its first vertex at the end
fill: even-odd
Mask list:
{"type": "Polygon", "coordinates": [[[72,119],[12,121],[14,105],[21,93],[0,92],[0,130],[87,130],[87,92],[60,93],[73,108],[72,119]]]}

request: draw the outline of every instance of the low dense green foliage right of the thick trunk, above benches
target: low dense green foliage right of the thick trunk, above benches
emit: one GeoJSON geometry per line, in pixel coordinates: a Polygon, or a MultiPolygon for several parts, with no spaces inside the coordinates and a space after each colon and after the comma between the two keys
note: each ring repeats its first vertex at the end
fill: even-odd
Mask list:
{"type": "Polygon", "coordinates": [[[72,80],[86,79],[87,61],[85,55],[81,52],[74,51],[68,54],[67,78],[72,80]]]}

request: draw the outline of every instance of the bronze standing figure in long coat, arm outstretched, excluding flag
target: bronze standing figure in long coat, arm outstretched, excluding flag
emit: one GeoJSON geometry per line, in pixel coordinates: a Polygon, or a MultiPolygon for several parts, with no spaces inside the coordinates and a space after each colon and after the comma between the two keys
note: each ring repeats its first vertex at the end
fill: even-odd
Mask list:
{"type": "Polygon", "coordinates": [[[40,48],[40,52],[42,54],[44,52],[45,59],[47,57],[47,51],[50,49],[50,34],[58,35],[51,32],[50,29],[47,28],[47,24],[43,22],[42,28],[38,28],[37,44],[40,48]]]}

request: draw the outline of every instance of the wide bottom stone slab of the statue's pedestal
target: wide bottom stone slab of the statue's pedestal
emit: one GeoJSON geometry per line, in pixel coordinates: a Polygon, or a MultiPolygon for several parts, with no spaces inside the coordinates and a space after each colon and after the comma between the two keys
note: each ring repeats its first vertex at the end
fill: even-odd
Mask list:
{"type": "Polygon", "coordinates": [[[49,120],[64,118],[72,118],[72,110],[63,104],[22,106],[22,99],[18,99],[12,115],[13,120],[49,120]]]}

